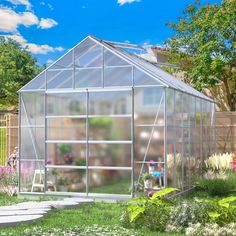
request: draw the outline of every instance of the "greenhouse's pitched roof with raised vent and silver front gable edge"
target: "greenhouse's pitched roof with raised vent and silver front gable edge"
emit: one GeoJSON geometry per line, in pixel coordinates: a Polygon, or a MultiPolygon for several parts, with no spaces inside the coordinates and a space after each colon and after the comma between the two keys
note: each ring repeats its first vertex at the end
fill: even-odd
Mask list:
{"type": "MultiPolygon", "coordinates": [[[[53,67],[60,59],[62,59],[65,55],[67,55],[69,52],[71,52],[74,48],[78,47],[82,42],[84,42],[86,39],[91,39],[95,43],[100,44],[107,50],[111,51],[112,53],[116,54],[118,57],[126,60],[128,63],[136,66],[137,68],[141,69],[142,71],[146,72],[148,75],[151,75],[153,78],[155,78],[159,83],[161,83],[165,87],[170,87],[172,89],[214,102],[214,100],[210,99],[203,93],[197,91],[196,89],[192,88],[190,85],[185,84],[181,80],[175,78],[170,73],[166,72],[162,68],[160,68],[156,63],[151,63],[147,60],[145,60],[142,57],[139,57],[135,53],[130,53],[122,48],[136,48],[136,49],[142,49],[140,46],[133,45],[133,44],[125,44],[125,43],[117,43],[117,42],[109,42],[102,39],[99,39],[97,37],[94,37],[92,35],[87,36],[85,39],[83,39],[80,43],[78,43],[75,47],[70,49],[66,54],[64,54],[62,57],[60,57],[57,61],[55,61],[52,65],[50,65],[48,68],[46,68],[44,71],[42,71],[37,77],[38,78],[42,73],[44,73],[46,70],[53,67]]],[[[33,80],[34,80],[33,79],[33,80]]],[[[43,80],[43,78],[41,78],[43,80]]],[[[31,81],[30,81],[31,82],[31,81]]],[[[29,82],[29,83],[30,83],[29,82]]],[[[28,83],[28,84],[29,84],[28,83]]],[[[24,88],[28,85],[26,84],[23,86],[19,91],[24,91],[24,88]]]]}

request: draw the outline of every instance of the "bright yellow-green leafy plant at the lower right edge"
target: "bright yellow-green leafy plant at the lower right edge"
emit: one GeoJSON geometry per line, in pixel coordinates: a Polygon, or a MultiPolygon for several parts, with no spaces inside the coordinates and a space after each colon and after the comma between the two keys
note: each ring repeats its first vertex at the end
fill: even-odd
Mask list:
{"type": "Polygon", "coordinates": [[[203,199],[198,202],[208,204],[211,209],[207,212],[211,223],[224,225],[236,222],[236,196],[222,199],[203,199]]]}

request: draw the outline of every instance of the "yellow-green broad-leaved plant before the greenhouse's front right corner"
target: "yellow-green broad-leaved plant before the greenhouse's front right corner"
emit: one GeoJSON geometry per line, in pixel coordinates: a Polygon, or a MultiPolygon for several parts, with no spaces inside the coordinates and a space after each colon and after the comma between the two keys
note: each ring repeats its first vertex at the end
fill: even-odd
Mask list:
{"type": "Polygon", "coordinates": [[[164,230],[173,206],[173,202],[166,196],[175,191],[178,189],[166,188],[154,193],[150,198],[142,197],[129,200],[127,211],[130,223],[153,230],[164,230]]]}

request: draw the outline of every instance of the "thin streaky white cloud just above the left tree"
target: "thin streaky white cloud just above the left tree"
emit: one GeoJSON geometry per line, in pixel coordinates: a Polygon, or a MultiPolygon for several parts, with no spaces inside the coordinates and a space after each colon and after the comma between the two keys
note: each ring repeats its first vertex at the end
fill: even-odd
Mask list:
{"type": "Polygon", "coordinates": [[[17,41],[22,47],[26,47],[28,51],[33,54],[48,54],[49,52],[61,52],[64,50],[63,47],[52,47],[47,44],[35,44],[35,43],[28,43],[27,40],[20,34],[14,35],[3,35],[6,38],[11,38],[17,41]]]}

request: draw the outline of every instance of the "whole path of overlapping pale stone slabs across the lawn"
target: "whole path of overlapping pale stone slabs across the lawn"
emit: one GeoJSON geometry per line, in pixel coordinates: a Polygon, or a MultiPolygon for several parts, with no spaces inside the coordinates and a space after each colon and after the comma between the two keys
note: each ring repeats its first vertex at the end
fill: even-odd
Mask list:
{"type": "Polygon", "coordinates": [[[64,198],[58,201],[22,202],[13,206],[0,207],[0,227],[21,223],[34,223],[42,219],[52,208],[71,209],[82,204],[92,204],[93,199],[64,198]]]}

